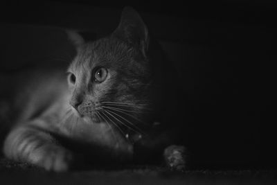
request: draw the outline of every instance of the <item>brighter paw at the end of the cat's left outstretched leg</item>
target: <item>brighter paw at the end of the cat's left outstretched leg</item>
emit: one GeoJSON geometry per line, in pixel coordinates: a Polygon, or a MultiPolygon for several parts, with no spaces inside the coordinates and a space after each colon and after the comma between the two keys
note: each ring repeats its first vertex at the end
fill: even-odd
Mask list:
{"type": "Polygon", "coordinates": [[[71,152],[59,146],[50,146],[46,150],[37,150],[30,155],[33,159],[33,164],[55,172],[69,170],[73,160],[71,152]]]}

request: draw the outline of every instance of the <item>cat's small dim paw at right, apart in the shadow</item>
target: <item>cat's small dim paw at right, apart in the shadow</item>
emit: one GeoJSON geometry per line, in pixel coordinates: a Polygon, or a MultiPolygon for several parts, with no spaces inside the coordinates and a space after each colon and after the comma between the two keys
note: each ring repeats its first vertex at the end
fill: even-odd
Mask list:
{"type": "Polygon", "coordinates": [[[163,152],[166,165],[172,170],[182,171],[187,168],[188,150],[184,146],[168,146],[163,152]]]}

